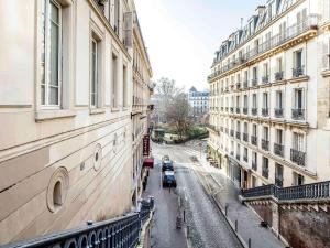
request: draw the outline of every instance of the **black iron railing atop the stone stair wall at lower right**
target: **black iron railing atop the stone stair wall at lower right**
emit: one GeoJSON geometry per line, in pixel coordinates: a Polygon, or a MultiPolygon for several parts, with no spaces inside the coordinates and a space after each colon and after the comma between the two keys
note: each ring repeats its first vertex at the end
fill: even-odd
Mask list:
{"type": "Polygon", "coordinates": [[[302,184],[302,185],[290,186],[290,187],[279,187],[274,184],[270,184],[261,187],[242,190],[242,196],[246,198],[261,197],[261,196],[274,196],[282,201],[322,200],[322,198],[330,197],[330,182],[326,181],[326,182],[302,184]]]}

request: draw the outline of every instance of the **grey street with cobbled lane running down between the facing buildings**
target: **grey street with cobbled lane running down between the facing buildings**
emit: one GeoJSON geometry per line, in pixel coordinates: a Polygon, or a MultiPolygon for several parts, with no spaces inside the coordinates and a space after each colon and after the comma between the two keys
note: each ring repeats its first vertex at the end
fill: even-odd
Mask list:
{"type": "Polygon", "coordinates": [[[184,229],[176,229],[178,197],[186,203],[186,218],[190,245],[194,248],[241,248],[237,236],[209,198],[200,183],[191,154],[185,145],[153,145],[156,166],[151,172],[146,194],[154,195],[156,213],[152,231],[152,245],[156,248],[185,248],[184,229]],[[169,192],[161,187],[160,159],[168,154],[174,161],[178,187],[169,192]]]}

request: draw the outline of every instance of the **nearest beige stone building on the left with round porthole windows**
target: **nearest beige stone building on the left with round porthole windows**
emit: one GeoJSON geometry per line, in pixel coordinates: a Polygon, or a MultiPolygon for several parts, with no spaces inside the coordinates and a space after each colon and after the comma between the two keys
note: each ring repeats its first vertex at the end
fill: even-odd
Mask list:
{"type": "Polygon", "coordinates": [[[0,244],[131,211],[134,97],[150,97],[133,90],[134,14],[133,0],[0,3],[0,244]]]}

